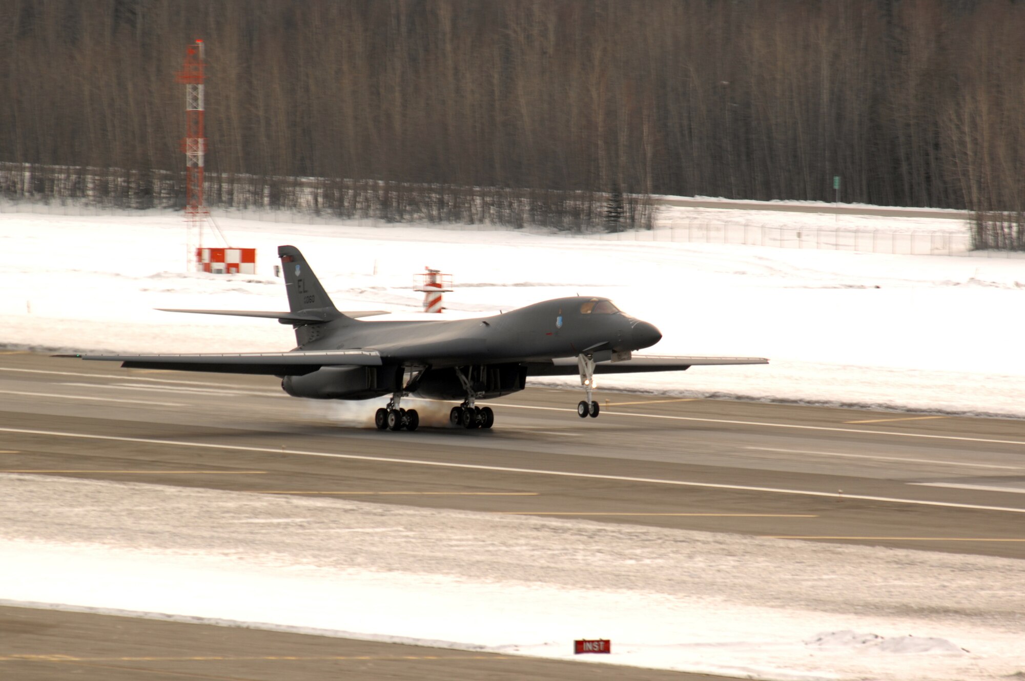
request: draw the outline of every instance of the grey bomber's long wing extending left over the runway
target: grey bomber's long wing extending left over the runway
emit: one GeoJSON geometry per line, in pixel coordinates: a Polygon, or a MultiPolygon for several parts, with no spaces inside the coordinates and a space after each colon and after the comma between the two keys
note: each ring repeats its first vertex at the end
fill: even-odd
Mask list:
{"type": "Polygon", "coordinates": [[[287,353],[188,353],[180,355],[56,355],[121,362],[130,369],[214,371],[300,376],[322,366],[380,366],[380,355],[369,350],[296,350],[287,353]]]}

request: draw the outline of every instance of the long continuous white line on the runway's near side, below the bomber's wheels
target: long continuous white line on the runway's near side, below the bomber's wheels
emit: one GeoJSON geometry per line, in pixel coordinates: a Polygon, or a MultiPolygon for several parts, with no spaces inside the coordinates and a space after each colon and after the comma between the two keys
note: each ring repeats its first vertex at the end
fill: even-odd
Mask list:
{"type": "Polygon", "coordinates": [[[52,437],[77,438],[83,440],[105,440],[108,442],[138,442],[144,444],[159,444],[171,447],[195,447],[199,449],[222,449],[225,451],[252,451],[264,454],[291,454],[293,456],[320,456],[324,458],[342,458],[362,462],[380,462],[384,464],[407,464],[410,466],[436,466],[439,468],[465,469],[471,471],[495,471],[498,473],[519,473],[525,475],[551,475],[566,478],[584,478],[589,480],[616,480],[619,482],[643,482],[656,485],[679,485],[681,487],[702,487],[706,489],[735,489],[739,491],[767,492],[773,494],[795,494],[798,496],[822,496],[839,499],[861,499],[866,502],[886,502],[890,504],[912,504],[916,506],[937,506],[951,509],[971,509],[975,511],[999,511],[1003,513],[1025,513],[1025,508],[1017,509],[1002,506],[979,506],[975,504],[954,504],[952,502],[930,502],[925,499],[893,498],[889,496],[870,496],[866,494],[840,494],[837,492],[819,492],[804,489],[781,489],[777,487],[754,487],[748,485],[729,485],[714,482],[693,482],[689,480],[663,480],[659,478],[634,478],[630,476],[602,475],[599,473],[575,473],[572,471],[545,471],[541,469],[518,469],[505,466],[484,466],[482,464],[456,464],[453,462],[428,462],[418,458],[393,458],[389,456],[370,456],[368,454],[338,454],[326,451],[309,451],[302,449],[285,449],[284,447],[246,447],[234,444],[211,444],[206,442],[183,442],[180,440],[156,440],[152,438],[129,438],[115,435],[91,435],[89,433],[66,433],[61,431],[38,431],[23,428],[0,428],[0,433],[22,433],[24,435],[49,435],[52,437]]]}

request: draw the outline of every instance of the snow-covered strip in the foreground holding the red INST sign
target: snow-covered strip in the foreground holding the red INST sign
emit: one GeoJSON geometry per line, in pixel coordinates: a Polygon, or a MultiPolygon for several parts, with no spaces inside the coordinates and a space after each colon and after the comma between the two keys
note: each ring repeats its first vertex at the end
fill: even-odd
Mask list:
{"type": "Polygon", "coordinates": [[[1025,562],[0,475],[0,603],[758,679],[1025,670],[1025,562]],[[173,519],[173,522],[168,522],[173,519]]]}

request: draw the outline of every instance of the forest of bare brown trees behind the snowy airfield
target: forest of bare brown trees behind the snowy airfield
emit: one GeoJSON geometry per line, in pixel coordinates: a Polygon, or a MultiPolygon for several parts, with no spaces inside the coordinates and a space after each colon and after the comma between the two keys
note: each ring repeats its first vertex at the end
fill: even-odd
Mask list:
{"type": "Polygon", "coordinates": [[[1023,36],[1012,0],[5,0],[0,161],[154,196],[202,38],[215,201],[316,177],[343,213],[601,221],[621,196],[643,224],[639,195],[832,200],[839,175],[1025,247],[1023,36]]]}

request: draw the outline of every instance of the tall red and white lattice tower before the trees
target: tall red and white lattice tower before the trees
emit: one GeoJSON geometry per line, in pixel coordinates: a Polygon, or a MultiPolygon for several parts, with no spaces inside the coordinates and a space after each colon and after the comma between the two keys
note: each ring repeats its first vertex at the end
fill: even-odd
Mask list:
{"type": "Polygon", "coordinates": [[[203,166],[206,156],[206,131],[203,121],[206,113],[203,103],[204,80],[206,80],[204,45],[202,40],[197,40],[186,49],[184,64],[177,73],[177,81],[186,86],[186,136],[181,141],[181,151],[186,153],[187,264],[193,262],[195,252],[192,235],[195,232],[198,237],[197,247],[202,246],[203,224],[209,215],[203,203],[203,166]]]}

